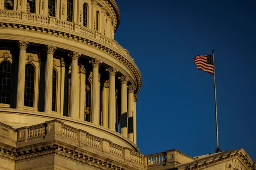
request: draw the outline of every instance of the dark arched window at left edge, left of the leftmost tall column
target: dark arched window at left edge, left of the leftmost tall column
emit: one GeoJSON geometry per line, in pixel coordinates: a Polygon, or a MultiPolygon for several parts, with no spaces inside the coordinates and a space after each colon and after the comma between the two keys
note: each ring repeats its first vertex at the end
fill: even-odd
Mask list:
{"type": "Polygon", "coordinates": [[[10,85],[11,85],[10,61],[0,63],[0,103],[10,104],[10,85]]]}

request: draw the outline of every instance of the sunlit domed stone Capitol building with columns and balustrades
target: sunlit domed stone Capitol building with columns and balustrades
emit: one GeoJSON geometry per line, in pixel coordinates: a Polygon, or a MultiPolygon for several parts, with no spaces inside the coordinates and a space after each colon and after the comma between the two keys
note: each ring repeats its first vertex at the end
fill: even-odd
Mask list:
{"type": "Polygon", "coordinates": [[[243,149],[140,153],[119,23],[115,0],[0,0],[0,170],[255,170],[243,149]]]}

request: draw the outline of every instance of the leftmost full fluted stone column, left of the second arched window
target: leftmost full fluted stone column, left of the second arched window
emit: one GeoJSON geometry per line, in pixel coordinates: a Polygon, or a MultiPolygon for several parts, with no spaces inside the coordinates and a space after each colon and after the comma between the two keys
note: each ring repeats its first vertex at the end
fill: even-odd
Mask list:
{"type": "Polygon", "coordinates": [[[18,87],[17,87],[17,101],[16,108],[23,109],[24,106],[24,92],[25,92],[25,65],[26,65],[26,49],[28,42],[19,41],[20,57],[18,67],[18,87]]]}

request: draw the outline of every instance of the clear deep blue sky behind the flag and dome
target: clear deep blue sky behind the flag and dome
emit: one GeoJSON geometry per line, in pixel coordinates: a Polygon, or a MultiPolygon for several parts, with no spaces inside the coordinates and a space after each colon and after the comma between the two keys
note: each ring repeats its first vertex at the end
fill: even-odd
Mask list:
{"type": "Polygon", "coordinates": [[[115,39],[142,73],[137,144],[143,154],[216,149],[213,75],[196,55],[215,51],[220,149],[256,161],[256,1],[116,0],[115,39]]]}

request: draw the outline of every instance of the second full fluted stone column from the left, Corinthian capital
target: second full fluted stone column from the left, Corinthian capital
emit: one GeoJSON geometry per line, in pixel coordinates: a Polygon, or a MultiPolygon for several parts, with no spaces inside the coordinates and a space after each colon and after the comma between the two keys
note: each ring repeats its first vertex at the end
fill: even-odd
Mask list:
{"type": "Polygon", "coordinates": [[[52,112],[52,68],[53,68],[53,54],[56,47],[47,45],[46,53],[46,71],[45,71],[45,100],[44,100],[44,112],[52,112]]]}

